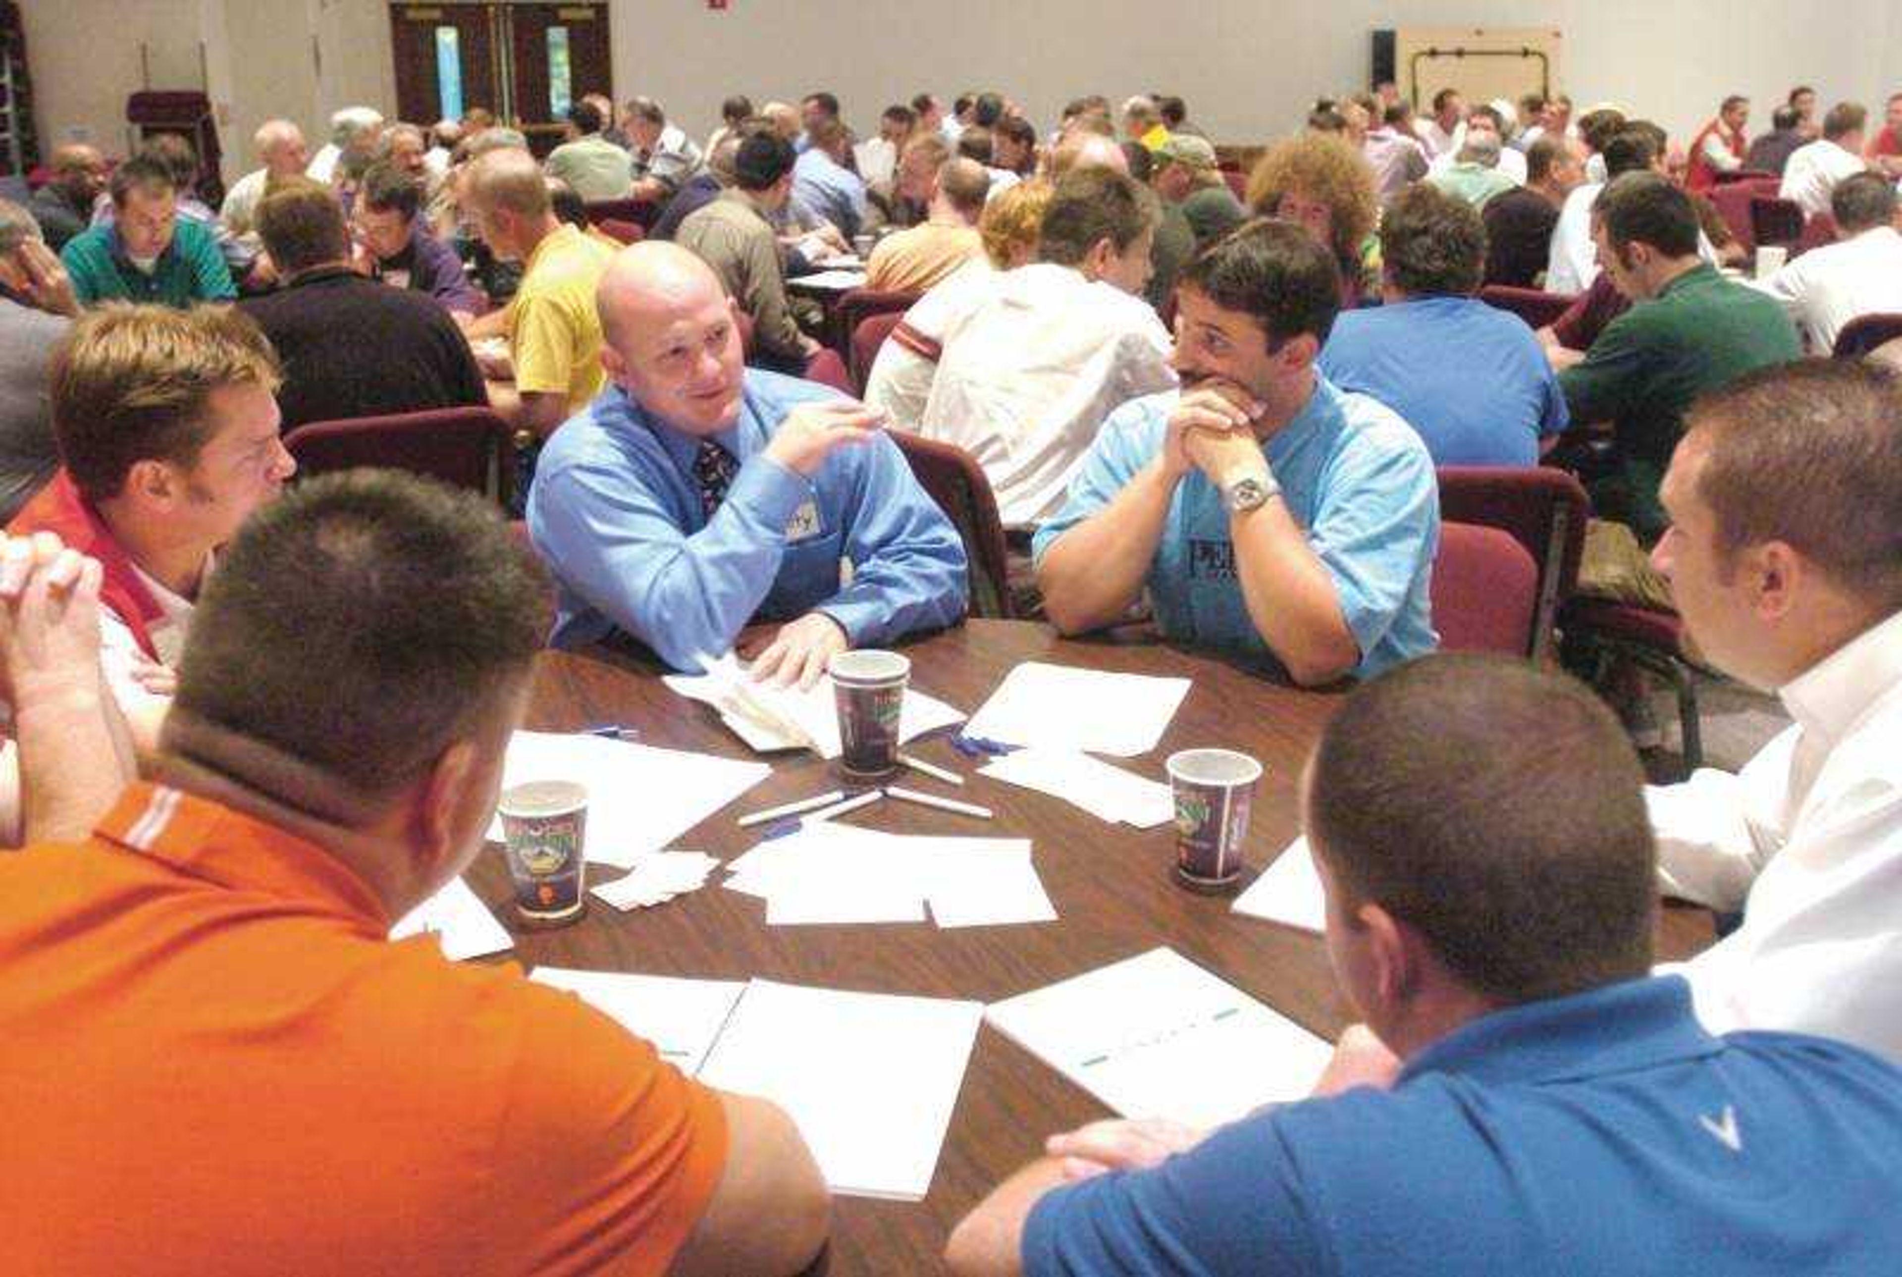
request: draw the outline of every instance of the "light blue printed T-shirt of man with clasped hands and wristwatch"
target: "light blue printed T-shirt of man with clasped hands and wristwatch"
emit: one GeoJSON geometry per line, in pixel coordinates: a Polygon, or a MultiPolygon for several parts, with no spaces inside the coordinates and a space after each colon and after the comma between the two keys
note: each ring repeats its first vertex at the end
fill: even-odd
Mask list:
{"type": "MultiPolygon", "coordinates": [[[[1063,508],[1037,531],[1038,558],[1156,459],[1177,396],[1166,390],[1109,415],[1071,478],[1063,508]]],[[[1316,377],[1307,405],[1269,438],[1265,453],[1288,512],[1333,579],[1360,645],[1354,674],[1369,678],[1430,653],[1438,638],[1426,586],[1440,542],[1440,487],[1419,436],[1381,403],[1316,377]]],[[[1221,491],[1200,470],[1170,502],[1149,565],[1149,596],[1172,639],[1269,653],[1234,577],[1221,491]]]]}

